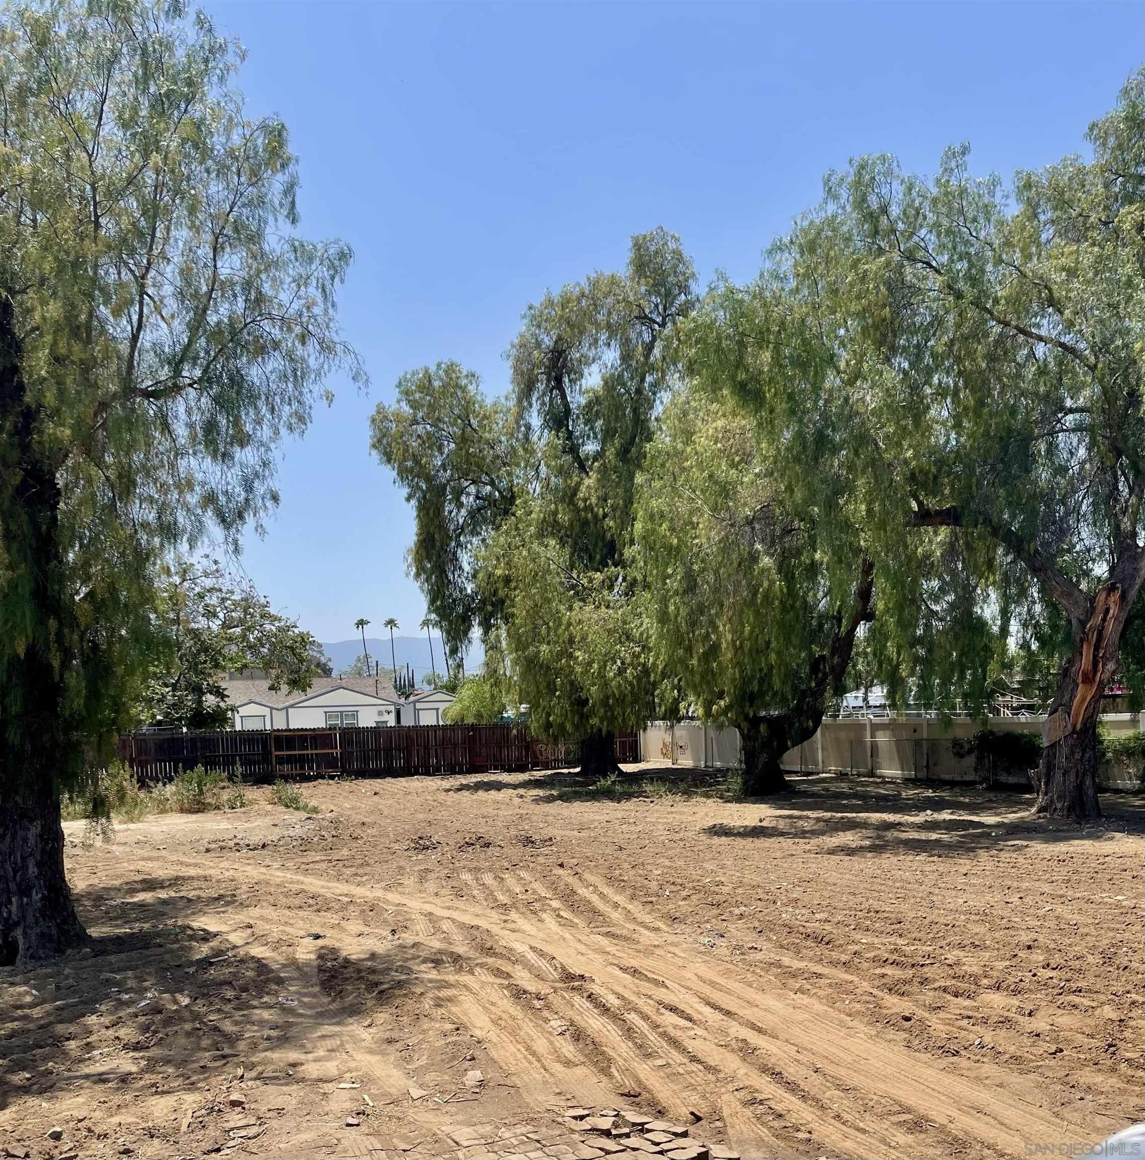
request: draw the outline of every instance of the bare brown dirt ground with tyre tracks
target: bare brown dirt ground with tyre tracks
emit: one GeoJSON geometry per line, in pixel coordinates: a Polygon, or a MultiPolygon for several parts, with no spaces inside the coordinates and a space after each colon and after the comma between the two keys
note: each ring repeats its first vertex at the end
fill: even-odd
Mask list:
{"type": "Polygon", "coordinates": [[[745,1158],[979,1158],[1142,1118],[1139,799],[1079,831],[978,790],[673,776],[70,824],[93,944],[0,972],[0,1154],[590,1160],[586,1104],[745,1158]]]}

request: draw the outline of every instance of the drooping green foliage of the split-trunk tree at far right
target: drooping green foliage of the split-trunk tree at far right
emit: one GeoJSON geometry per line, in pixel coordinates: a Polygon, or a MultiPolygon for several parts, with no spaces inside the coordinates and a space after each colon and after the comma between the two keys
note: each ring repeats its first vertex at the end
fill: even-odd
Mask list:
{"type": "Polygon", "coordinates": [[[862,158],[688,327],[820,550],[863,527],[872,653],[928,701],[984,703],[1012,641],[1060,659],[1097,583],[1145,579],[1145,72],[1089,140],[1010,191],[964,147],[933,181],[862,158]]]}

